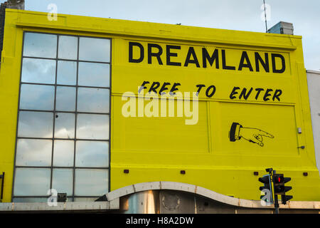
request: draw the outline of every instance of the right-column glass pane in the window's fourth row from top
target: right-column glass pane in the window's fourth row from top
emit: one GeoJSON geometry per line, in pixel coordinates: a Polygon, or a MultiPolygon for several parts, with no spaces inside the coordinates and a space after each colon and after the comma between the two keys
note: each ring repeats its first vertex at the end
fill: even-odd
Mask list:
{"type": "Polygon", "coordinates": [[[77,138],[109,139],[109,115],[78,114],[77,118],[77,138]]]}

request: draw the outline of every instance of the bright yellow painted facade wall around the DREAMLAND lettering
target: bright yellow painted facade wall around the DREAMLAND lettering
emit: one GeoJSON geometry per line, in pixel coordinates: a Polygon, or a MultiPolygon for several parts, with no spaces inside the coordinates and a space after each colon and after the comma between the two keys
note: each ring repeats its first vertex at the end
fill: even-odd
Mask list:
{"type": "MultiPolygon", "coordinates": [[[[257,178],[265,175],[265,168],[273,167],[292,177],[293,200],[320,200],[301,36],[68,15],[58,15],[58,21],[48,21],[46,17],[38,12],[6,11],[0,73],[0,172],[6,172],[4,202],[11,201],[23,31],[112,38],[110,190],[139,182],[174,181],[243,199],[260,199],[257,178]],[[129,63],[129,42],[144,46],[141,63],[129,63]],[[148,43],[161,47],[162,65],[156,57],[148,63],[148,43]],[[170,60],[181,66],[167,66],[169,45],[180,47],[171,50],[176,56],[170,60]],[[195,63],[184,66],[191,47],[200,67],[195,63]],[[215,63],[203,68],[203,48],[210,55],[218,49],[218,69],[215,63]],[[235,66],[235,71],[223,69],[222,50],[225,65],[235,66]],[[243,51],[247,52],[253,71],[238,70],[243,51]],[[260,72],[256,71],[255,52],[262,57],[268,54],[269,73],[261,65],[260,72]],[[272,73],[272,53],[284,56],[286,70],[283,73],[272,73]],[[131,98],[125,100],[123,93],[136,96],[138,86],[144,81],[149,81],[144,93],[153,82],[161,86],[170,83],[169,90],[174,83],[179,83],[176,92],[190,92],[191,96],[199,84],[206,88],[215,86],[216,91],[211,98],[206,96],[205,88],[198,94],[198,122],[194,125],[186,125],[185,120],[190,119],[186,116],[124,117],[122,109],[131,98]],[[234,87],[239,90],[231,99],[234,87]],[[239,99],[242,88],[252,88],[247,100],[239,99]],[[257,99],[256,88],[264,89],[257,99]],[[266,97],[270,100],[263,99],[267,89],[272,89],[266,97]],[[279,100],[272,100],[275,90],[282,90],[279,100]],[[244,137],[230,142],[232,123],[240,123],[242,128],[258,128],[273,138],[262,135],[263,147],[244,137]],[[297,128],[302,128],[302,134],[297,133],[297,128]],[[298,148],[302,145],[305,149],[298,148]],[[124,169],[129,173],[124,173],[124,169]],[[181,175],[180,170],[186,170],[186,174],[181,175]],[[259,172],[259,176],[253,172],[259,172]],[[303,172],[309,175],[304,177],[303,172]]],[[[133,56],[139,57],[139,49],[133,50],[133,56]]],[[[281,64],[277,58],[276,66],[281,64]]],[[[134,97],[132,102],[142,102],[142,99],[134,97]]],[[[150,100],[144,100],[143,107],[150,104],[150,100]]],[[[138,110],[135,113],[138,115],[138,110]]]]}

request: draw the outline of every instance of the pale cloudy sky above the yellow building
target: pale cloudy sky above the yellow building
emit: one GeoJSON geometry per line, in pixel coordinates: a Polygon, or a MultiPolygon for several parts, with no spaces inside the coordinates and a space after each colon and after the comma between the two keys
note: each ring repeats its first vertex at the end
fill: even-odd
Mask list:
{"type": "MultiPolygon", "coordinates": [[[[47,12],[49,4],[58,14],[96,16],[165,24],[265,32],[263,0],[25,0],[26,10],[47,12]]],[[[270,5],[268,28],[279,21],[294,24],[303,36],[306,69],[320,71],[320,1],[265,0],[270,5]]],[[[1,0],[1,3],[4,0],[1,0]]]]}

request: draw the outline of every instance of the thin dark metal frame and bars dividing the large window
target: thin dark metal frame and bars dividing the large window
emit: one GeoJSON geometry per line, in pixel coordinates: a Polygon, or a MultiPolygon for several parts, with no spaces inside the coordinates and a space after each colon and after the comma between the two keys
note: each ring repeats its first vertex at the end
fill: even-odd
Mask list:
{"type": "Polygon", "coordinates": [[[68,198],[72,198],[72,201],[75,201],[75,198],[87,198],[87,197],[100,197],[100,195],[92,195],[92,196],[81,196],[81,195],[75,195],[75,170],[76,169],[86,169],[86,170],[107,170],[108,172],[108,182],[107,182],[107,191],[110,192],[110,160],[111,160],[111,101],[112,101],[112,38],[106,38],[106,37],[101,37],[101,36],[82,36],[82,35],[73,35],[73,34],[63,34],[63,33],[45,33],[45,34],[52,34],[57,36],[57,47],[56,47],[56,58],[43,58],[43,57],[33,57],[33,56],[23,56],[23,51],[24,51],[24,41],[25,41],[25,34],[26,33],[45,33],[45,32],[38,32],[38,31],[23,31],[23,39],[22,39],[22,49],[21,49],[21,72],[20,72],[20,81],[19,81],[19,91],[18,91],[18,115],[17,115],[17,124],[16,124],[16,145],[15,145],[15,153],[14,153],[14,175],[13,175],[13,183],[12,183],[12,192],[11,192],[11,202],[13,202],[14,198],[43,198],[43,197],[50,197],[48,195],[46,196],[34,196],[34,195],[27,195],[27,196],[15,196],[14,195],[14,182],[16,179],[16,168],[50,168],[50,189],[52,188],[53,184],[53,169],[70,169],[73,170],[73,192],[72,195],[68,195],[68,198]],[[60,36],[73,36],[78,38],[78,53],[77,53],[77,59],[76,60],[71,60],[71,59],[63,59],[63,58],[58,58],[58,51],[59,51],[59,37],[60,36]],[[85,37],[85,38],[102,38],[110,41],[110,61],[109,62],[100,62],[100,61],[80,61],[79,60],[79,48],[80,48],[80,38],[85,37]],[[36,58],[36,59],[49,59],[49,60],[54,60],[55,61],[55,83],[25,83],[21,82],[21,77],[22,77],[22,67],[23,67],[23,58],[36,58]],[[77,70],[76,70],[76,83],[75,85],[63,85],[63,84],[58,84],[57,83],[57,76],[58,76],[58,61],[73,61],[77,63],[77,70]],[[78,76],[79,76],[79,63],[80,62],[85,62],[85,63],[104,63],[104,64],[109,64],[110,69],[109,69],[109,87],[99,87],[99,86],[78,86],[78,76]],[[54,106],[53,110],[28,110],[28,109],[20,109],[20,98],[21,98],[21,84],[29,84],[29,85],[39,85],[39,86],[54,86],[55,94],[54,94],[54,106]],[[56,98],[57,98],[57,87],[58,86],[68,86],[68,87],[73,87],[75,88],[75,111],[60,111],[56,110],[56,98]],[[90,113],[90,112],[78,112],[78,88],[103,88],[103,89],[108,89],[110,92],[109,95],[109,112],[108,113],[90,113]],[[19,120],[19,113],[21,111],[34,111],[34,112],[47,112],[47,113],[53,113],[53,137],[52,138],[32,138],[32,137],[18,137],[18,120],[19,120]],[[73,113],[75,114],[75,137],[72,139],[69,138],[55,138],[55,114],[56,113],[73,113]],[[77,139],[77,114],[92,114],[92,115],[108,115],[109,117],[109,138],[107,140],[95,140],[95,139],[77,139]],[[36,139],[36,140],[52,140],[52,151],[51,151],[51,165],[46,166],[46,167],[38,167],[38,166],[18,166],[16,165],[16,150],[17,150],[17,142],[18,139],[36,139]],[[55,140],[70,140],[74,141],[74,146],[73,146],[73,166],[70,167],[57,167],[53,166],[53,151],[54,151],[54,141],[55,140]],[[109,161],[107,167],[76,167],[75,166],[75,145],[78,140],[83,140],[83,141],[96,141],[96,142],[109,142],[109,148],[108,148],[108,155],[109,155],[109,161]]]}

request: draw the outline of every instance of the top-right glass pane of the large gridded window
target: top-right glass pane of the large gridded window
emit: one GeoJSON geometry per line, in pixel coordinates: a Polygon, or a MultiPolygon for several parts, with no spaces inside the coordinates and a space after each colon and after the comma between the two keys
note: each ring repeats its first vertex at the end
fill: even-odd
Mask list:
{"type": "Polygon", "coordinates": [[[110,40],[80,37],[79,60],[110,62],[110,40]]]}

